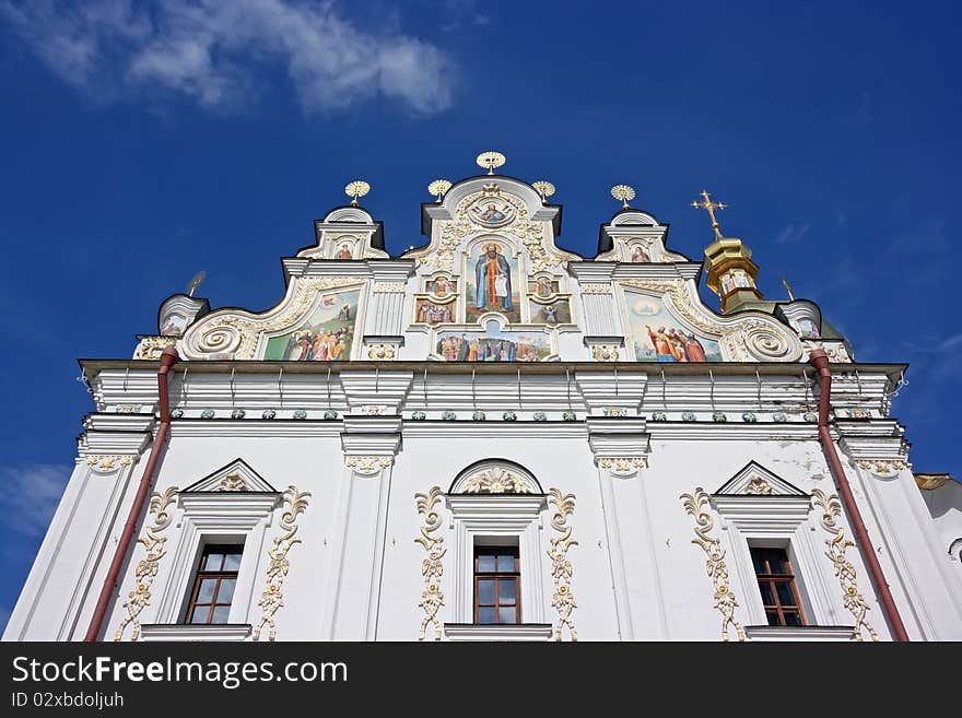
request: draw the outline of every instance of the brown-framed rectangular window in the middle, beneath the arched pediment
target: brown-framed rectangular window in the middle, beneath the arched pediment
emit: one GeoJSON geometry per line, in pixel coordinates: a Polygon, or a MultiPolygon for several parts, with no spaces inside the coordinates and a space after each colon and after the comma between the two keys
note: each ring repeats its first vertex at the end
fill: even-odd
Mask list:
{"type": "Polygon", "coordinates": [[[474,623],[521,622],[517,546],[474,546],[474,623]]]}

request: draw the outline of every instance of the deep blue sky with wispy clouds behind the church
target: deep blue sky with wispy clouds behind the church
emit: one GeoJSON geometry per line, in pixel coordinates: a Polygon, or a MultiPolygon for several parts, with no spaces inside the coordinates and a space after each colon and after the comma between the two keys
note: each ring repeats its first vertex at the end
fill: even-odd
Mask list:
{"type": "MultiPolygon", "coordinates": [[[[591,256],[613,184],[699,258],[730,207],[760,289],[814,299],[858,360],[911,363],[916,470],[960,474],[953,3],[0,0],[0,624],[92,404],[200,269],[213,306],[281,296],[278,258],[363,178],[388,249],[436,177],[548,179],[591,256]]],[[[704,294],[712,306],[716,297],[704,294]]]]}

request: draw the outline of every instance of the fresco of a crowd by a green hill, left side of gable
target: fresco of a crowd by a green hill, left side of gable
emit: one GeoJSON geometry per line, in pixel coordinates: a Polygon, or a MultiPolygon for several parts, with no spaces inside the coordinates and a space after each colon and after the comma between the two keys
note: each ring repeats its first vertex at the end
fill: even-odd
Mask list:
{"type": "Polygon", "coordinates": [[[322,294],[314,311],[297,329],[268,340],[263,358],[291,362],[350,360],[360,295],[360,290],[322,294]]]}

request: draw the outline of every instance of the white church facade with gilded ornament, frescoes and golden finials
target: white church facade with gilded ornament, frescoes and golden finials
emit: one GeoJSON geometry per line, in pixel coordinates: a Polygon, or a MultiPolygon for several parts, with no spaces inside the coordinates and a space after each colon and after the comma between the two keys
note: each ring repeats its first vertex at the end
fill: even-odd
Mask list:
{"type": "Polygon", "coordinates": [[[422,247],[352,183],[277,306],[174,295],[82,361],[4,639],[962,639],[962,492],[913,473],[905,365],[765,301],[707,192],[703,260],[623,186],[584,258],[496,160],[432,184],[422,247]]]}

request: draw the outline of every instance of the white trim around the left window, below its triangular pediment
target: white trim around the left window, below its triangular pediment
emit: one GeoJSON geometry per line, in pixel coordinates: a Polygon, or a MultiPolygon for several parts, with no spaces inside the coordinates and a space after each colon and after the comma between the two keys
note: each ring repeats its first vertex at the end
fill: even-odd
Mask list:
{"type": "Polygon", "coordinates": [[[157,602],[154,619],[157,624],[179,624],[183,621],[181,613],[189,600],[188,592],[193,584],[201,546],[227,537],[237,537],[244,543],[227,623],[245,624],[251,621],[250,607],[260,558],[265,555],[265,538],[279,499],[280,494],[274,492],[178,494],[177,522],[180,533],[176,546],[172,546],[171,568],[157,602]]]}

